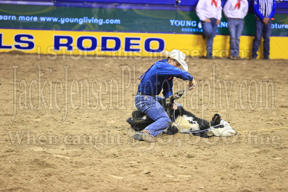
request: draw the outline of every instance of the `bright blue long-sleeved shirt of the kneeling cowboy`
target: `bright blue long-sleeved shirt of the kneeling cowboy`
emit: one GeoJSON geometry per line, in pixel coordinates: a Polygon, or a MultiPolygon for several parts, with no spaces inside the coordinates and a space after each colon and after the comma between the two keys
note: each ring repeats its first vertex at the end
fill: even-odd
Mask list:
{"type": "Polygon", "coordinates": [[[138,91],[146,95],[159,95],[163,89],[164,97],[173,95],[173,78],[193,80],[193,76],[187,71],[168,64],[168,60],[157,61],[149,68],[141,80],[138,91]]]}

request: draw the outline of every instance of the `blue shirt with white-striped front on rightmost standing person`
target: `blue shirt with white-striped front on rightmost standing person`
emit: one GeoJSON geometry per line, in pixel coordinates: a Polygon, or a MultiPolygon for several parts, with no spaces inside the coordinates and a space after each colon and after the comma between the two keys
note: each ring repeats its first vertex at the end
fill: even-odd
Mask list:
{"type": "Polygon", "coordinates": [[[261,20],[264,17],[272,19],[275,14],[276,3],[275,0],[254,0],[253,8],[256,17],[261,20]]]}

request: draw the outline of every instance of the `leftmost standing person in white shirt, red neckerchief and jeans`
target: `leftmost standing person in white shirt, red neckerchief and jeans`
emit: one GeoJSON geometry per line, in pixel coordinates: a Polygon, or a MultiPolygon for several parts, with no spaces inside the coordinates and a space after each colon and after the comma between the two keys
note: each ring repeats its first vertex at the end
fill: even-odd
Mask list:
{"type": "Polygon", "coordinates": [[[213,38],[222,16],[221,0],[199,0],[196,14],[201,20],[203,33],[207,36],[207,59],[212,59],[213,38]]]}

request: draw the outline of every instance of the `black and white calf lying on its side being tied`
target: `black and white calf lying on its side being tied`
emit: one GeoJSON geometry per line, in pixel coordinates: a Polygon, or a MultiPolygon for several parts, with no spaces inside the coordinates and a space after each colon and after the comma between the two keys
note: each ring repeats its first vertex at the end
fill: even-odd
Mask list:
{"type": "MultiPolygon", "coordinates": [[[[182,106],[178,106],[177,110],[175,110],[175,122],[174,110],[171,110],[169,107],[173,105],[175,99],[179,99],[183,94],[184,90],[180,90],[172,96],[159,101],[172,121],[172,124],[166,128],[163,133],[175,134],[177,132],[192,132],[193,135],[202,137],[229,137],[237,134],[237,132],[231,128],[228,122],[221,119],[219,114],[215,114],[212,121],[208,122],[186,111],[182,106]]],[[[139,110],[132,112],[132,118],[128,118],[126,121],[136,131],[141,131],[154,122],[139,110]]]]}

